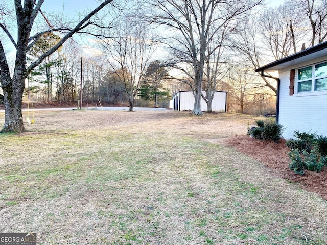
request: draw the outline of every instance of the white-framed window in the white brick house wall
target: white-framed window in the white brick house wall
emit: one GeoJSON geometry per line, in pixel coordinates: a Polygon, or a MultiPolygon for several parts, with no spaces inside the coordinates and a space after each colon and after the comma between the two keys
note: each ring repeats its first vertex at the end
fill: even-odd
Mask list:
{"type": "Polygon", "coordinates": [[[320,90],[327,90],[327,62],[298,69],[298,93],[320,90]]]}

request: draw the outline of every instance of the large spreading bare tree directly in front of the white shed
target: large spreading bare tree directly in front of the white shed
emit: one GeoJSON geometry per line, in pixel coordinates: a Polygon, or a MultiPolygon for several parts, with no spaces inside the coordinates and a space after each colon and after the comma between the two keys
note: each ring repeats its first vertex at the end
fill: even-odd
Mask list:
{"type": "Polygon", "coordinates": [[[202,114],[201,96],[205,60],[218,46],[208,51],[208,43],[226,23],[248,14],[261,0],[148,0],[153,8],[151,21],[171,31],[167,44],[171,66],[191,77],[195,95],[193,114],[202,114]],[[191,68],[188,69],[187,67],[191,68]]]}

